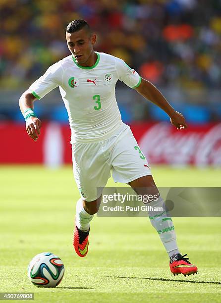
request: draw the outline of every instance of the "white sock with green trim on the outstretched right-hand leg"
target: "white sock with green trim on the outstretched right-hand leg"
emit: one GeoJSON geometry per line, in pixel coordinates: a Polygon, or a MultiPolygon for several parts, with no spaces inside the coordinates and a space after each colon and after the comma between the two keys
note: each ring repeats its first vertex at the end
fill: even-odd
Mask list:
{"type": "Polygon", "coordinates": [[[149,218],[153,227],[157,230],[160,235],[161,241],[168,253],[168,256],[179,253],[177,243],[176,243],[176,234],[174,231],[174,226],[172,223],[171,216],[165,210],[165,203],[161,196],[157,201],[152,201],[147,205],[152,207],[162,207],[163,211],[149,211],[149,218]]]}

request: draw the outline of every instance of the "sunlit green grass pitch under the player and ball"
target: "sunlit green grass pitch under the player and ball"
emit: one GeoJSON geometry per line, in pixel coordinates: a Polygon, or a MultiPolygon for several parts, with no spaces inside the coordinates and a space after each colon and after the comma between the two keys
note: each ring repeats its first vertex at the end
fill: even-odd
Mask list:
{"type": "MultiPolygon", "coordinates": [[[[220,302],[219,217],[173,219],[181,252],[198,266],[194,276],[170,273],[160,238],[144,217],[95,216],[89,253],[80,258],[72,248],[79,193],[71,166],[1,166],[0,172],[0,292],[34,292],[35,302],[44,303],[220,302]],[[54,289],[27,278],[31,258],[47,251],[65,266],[54,289]]],[[[221,186],[219,169],[156,166],[152,172],[162,187],[221,186]]]]}

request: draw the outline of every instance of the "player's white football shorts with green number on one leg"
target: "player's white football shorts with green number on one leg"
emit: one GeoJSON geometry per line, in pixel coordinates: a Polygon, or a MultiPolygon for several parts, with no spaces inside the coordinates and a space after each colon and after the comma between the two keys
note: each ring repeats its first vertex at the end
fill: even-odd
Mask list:
{"type": "Polygon", "coordinates": [[[128,183],[151,175],[149,164],[138,147],[130,127],[123,124],[110,138],[72,145],[74,178],[83,200],[94,201],[110,178],[128,183]]]}

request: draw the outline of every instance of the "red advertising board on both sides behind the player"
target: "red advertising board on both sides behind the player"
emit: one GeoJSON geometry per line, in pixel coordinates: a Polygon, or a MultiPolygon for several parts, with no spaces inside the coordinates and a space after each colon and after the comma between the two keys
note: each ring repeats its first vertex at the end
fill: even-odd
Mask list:
{"type": "MultiPolygon", "coordinates": [[[[177,130],[169,123],[133,123],[134,137],[150,164],[221,166],[221,123],[177,130]]],[[[0,123],[0,163],[71,163],[68,125],[43,123],[37,142],[23,124],[0,123]]]]}

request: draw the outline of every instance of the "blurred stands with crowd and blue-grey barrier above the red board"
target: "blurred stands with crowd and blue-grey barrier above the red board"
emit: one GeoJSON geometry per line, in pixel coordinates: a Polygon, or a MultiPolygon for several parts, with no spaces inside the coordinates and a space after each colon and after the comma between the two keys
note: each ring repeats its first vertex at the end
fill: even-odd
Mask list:
{"type": "MultiPolygon", "coordinates": [[[[221,121],[221,0],[0,0],[0,120],[23,122],[20,93],[70,54],[65,29],[74,19],[97,33],[95,50],[124,59],[187,122],[221,121]]],[[[121,83],[116,92],[124,122],[168,121],[121,83]]],[[[38,115],[66,122],[59,94],[49,95],[51,103],[36,102],[38,115]]]]}

